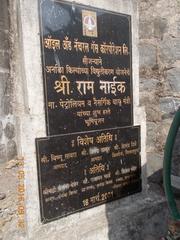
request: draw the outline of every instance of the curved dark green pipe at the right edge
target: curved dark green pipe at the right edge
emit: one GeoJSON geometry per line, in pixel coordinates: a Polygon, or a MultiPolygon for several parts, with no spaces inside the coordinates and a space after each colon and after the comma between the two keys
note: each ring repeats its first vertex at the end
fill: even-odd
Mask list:
{"type": "Polygon", "coordinates": [[[171,165],[172,165],[171,162],[172,162],[173,146],[174,146],[174,142],[176,139],[179,126],[180,126],[180,110],[176,112],[167,136],[165,149],[164,149],[164,163],[163,163],[163,181],[164,181],[165,194],[168,201],[171,216],[176,221],[180,221],[180,213],[178,211],[174,193],[171,186],[171,165]]]}

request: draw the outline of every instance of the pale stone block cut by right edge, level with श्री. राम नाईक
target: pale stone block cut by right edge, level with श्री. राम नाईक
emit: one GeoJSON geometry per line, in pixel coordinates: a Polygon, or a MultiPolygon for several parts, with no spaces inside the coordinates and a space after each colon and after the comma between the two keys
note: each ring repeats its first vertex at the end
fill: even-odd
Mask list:
{"type": "Polygon", "coordinates": [[[174,92],[180,92],[180,68],[167,71],[167,80],[174,92]]]}

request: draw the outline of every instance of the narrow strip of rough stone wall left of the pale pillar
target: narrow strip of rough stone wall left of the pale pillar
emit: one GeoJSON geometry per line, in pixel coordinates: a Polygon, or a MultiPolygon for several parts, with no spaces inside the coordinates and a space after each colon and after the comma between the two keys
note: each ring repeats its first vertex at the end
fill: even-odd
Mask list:
{"type": "Polygon", "coordinates": [[[1,1],[0,8],[0,163],[17,155],[15,120],[13,116],[13,78],[11,76],[11,34],[9,6],[1,1]]]}

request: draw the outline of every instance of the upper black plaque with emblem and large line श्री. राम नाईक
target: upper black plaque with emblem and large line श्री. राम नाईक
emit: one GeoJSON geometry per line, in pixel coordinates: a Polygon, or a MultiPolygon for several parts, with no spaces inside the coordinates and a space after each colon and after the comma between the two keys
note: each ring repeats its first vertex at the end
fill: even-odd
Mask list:
{"type": "Polygon", "coordinates": [[[130,16],[39,2],[47,134],[132,125],[130,16]]]}

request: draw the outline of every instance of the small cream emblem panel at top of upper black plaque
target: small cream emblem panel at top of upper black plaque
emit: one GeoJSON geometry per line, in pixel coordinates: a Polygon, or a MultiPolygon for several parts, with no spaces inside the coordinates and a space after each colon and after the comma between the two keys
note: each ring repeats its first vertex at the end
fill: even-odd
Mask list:
{"type": "Polygon", "coordinates": [[[97,37],[96,12],[82,10],[83,36],[97,37]]]}

